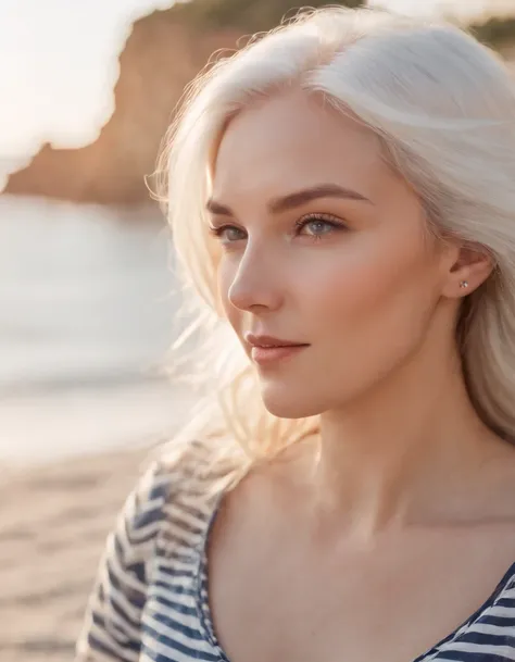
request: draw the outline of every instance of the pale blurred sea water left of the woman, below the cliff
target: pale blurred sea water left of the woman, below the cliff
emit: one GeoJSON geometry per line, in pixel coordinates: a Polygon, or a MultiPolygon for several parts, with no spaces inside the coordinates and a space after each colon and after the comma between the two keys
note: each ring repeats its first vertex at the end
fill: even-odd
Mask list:
{"type": "Polygon", "coordinates": [[[159,212],[0,196],[0,462],[169,437],[179,304],[159,212]]]}

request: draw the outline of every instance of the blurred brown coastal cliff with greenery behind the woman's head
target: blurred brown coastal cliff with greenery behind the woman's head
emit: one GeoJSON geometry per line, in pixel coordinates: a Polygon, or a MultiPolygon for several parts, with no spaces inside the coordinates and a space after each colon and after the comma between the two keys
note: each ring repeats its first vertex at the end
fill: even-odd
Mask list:
{"type": "MultiPolygon", "coordinates": [[[[121,55],[116,110],[99,139],[81,149],[45,146],[28,167],[11,176],[7,192],[145,204],[149,201],[145,176],[154,170],[184,87],[214,51],[234,50],[244,43],[242,36],[276,25],[285,14],[291,15],[291,0],[193,0],[138,21],[121,55]]],[[[326,2],[310,2],[319,4],[326,2]]],[[[491,20],[475,29],[501,50],[515,41],[515,20],[491,20]]]]}

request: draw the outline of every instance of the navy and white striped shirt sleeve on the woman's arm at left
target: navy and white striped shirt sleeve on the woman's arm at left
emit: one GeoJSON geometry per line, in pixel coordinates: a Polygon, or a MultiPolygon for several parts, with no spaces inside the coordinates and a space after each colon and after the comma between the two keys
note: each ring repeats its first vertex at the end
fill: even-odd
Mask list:
{"type": "Polygon", "coordinates": [[[141,613],[166,494],[155,462],[128,496],[108,537],[75,662],[138,662],[141,613]]]}

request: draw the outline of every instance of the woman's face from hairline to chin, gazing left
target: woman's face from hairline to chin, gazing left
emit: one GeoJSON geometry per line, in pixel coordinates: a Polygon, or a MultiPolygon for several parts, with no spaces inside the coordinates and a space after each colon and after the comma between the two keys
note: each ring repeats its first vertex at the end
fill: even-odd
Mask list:
{"type": "Polygon", "coordinates": [[[234,118],[208,208],[225,313],[272,413],[340,409],[424,345],[450,255],[378,139],[321,98],[234,118]]]}

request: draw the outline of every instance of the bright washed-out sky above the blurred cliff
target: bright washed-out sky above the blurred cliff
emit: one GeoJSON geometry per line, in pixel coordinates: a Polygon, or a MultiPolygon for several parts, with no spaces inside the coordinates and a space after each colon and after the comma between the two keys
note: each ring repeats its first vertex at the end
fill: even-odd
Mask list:
{"type": "MultiPolygon", "coordinates": [[[[405,13],[511,9],[515,0],[369,0],[405,13]]],[[[0,0],[0,191],[45,142],[93,142],[114,111],[134,21],[174,0],[0,0]]],[[[309,4],[309,3],[307,3],[309,4]]]]}

